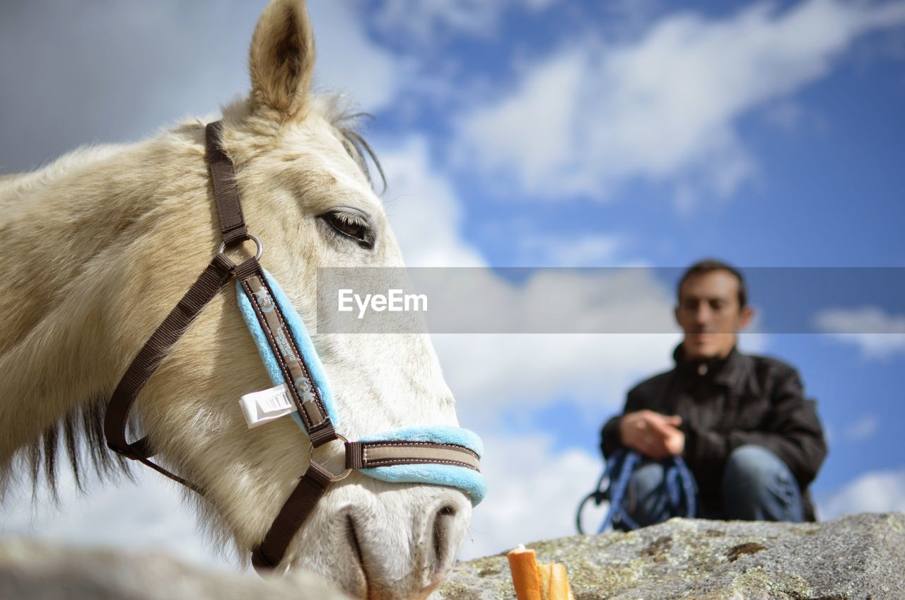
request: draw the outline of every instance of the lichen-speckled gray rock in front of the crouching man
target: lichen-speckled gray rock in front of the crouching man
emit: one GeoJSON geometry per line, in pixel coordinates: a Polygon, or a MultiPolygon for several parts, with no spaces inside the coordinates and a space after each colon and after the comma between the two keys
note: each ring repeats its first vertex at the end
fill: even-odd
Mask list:
{"type": "MultiPolygon", "coordinates": [[[[903,600],[905,514],[825,523],[673,518],[636,532],[529,544],[577,600],[903,600]]],[[[432,599],[514,598],[506,556],[462,563],[432,599]]]]}

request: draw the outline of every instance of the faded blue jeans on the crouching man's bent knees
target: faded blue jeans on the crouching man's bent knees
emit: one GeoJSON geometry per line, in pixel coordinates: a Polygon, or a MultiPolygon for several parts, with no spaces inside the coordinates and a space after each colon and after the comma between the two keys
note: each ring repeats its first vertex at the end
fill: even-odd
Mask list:
{"type": "MultiPolygon", "coordinates": [[[[801,491],[786,463],[762,446],[740,446],[729,454],[722,479],[721,515],[744,521],[805,520],[801,491]]],[[[700,502],[698,503],[700,506],[700,502]]],[[[646,462],[636,469],[625,493],[624,508],[641,527],[675,517],[659,462],[646,462]]]]}

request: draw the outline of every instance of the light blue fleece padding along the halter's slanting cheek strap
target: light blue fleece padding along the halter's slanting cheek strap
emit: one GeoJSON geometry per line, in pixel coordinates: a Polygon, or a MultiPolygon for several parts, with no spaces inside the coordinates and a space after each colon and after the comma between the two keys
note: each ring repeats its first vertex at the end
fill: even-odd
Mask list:
{"type": "MultiPolygon", "coordinates": [[[[301,315],[299,315],[299,312],[292,306],[286,293],[282,291],[280,284],[271,277],[270,273],[264,269],[262,270],[264,271],[264,277],[267,279],[267,283],[271,286],[271,290],[273,290],[273,300],[280,305],[282,314],[286,317],[286,322],[291,329],[292,336],[295,338],[296,344],[299,344],[301,355],[304,357],[305,363],[308,364],[311,378],[314,380],[314,384],[318,386],[320,398],[324,401],[324,408],[327,409],[330,421],[333,421],[334,427],[338,427],[339,419],[336,407],[333,403],[333,392],[330,390],[329,383],[327,382],[327,374],[324,373],[324,366],[320,363],[318,353],[314,349],[314,344],[311,342],[308,330],[305,329],[305,324],[301,321],[301,315]]],[[[258,353],[261,354],[264,368],[267,369],[267,373],[271,376],[271,382],[273,382],[274,385],[286,383],[286,385],[291,387],[293,382],[287,382],[283,378],[280,365],[273,355],[270,344],[267,344],[267,338],[261,328],[261,323],[258,321],[258,316],[254,314],[252,301],[245,295],[242,285],[238,281],[235,282],[235,292],[238,297],[239,310],[242,312],[245,324],[248,325],[248,330],[252,334],[254,344],[258,346],[258,353]]],[[[301,431],[305,431],[305,424],[301,421],[298,412],[292,413],[292,419],[299,424],[301,431]]]]}

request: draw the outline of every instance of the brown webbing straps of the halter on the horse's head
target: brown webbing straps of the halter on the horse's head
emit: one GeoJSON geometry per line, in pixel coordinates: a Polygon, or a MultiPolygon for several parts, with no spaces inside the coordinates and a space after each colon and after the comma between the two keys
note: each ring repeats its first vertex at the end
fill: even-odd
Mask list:
{"type": "MultiPolygon", "coordinates": [[[[104,433],[107,445],[111,450],[131,459],[148,465],[169,479],[181,483],[189,489],[193,489],[202,496],[204,490],[195,484],[183,479],[176,474],[164,469],[152,462],[150,457],[154,455],[148,438],[129,442],[126,439],[129,411],[132,409],[138,392],[157,367],[167,356],[170,349],[186,333],[189,325],[204,307],[214,299],[214,296],[234,277],[242,286],[243,292],[252,302],[255,314],[265,332],[285,328],[286,317],[282,314],[279,305],[275,311],[261,310],[258,304],[260,300],[255,294],[263,289],[269,292],[267,279],[263,275],[262,267],[258,263],[261,256],[261,242],[253,237],[248,228],[242,212],[242,202],[239,198],[238,188],[235,184],[233,162],[224,153],[220,146],[220,138],[223,131],[223,121],[209,123],[205,131],[207,162],[210,168],[211,179],[214,184],[214,198],[216,200],[217,214],[220,220],[220,228],[223,232],[223,244],[220,250],[198,276],[195,283],[188,289],[186,295],[176,304],[176,307],[167,315],[154,334],[142,346],[135,359],[129,365],[122,376],[116,390],[110,397],[107,407],[107,415],[104,422],[104,433]],[[248,258],[240,265],[224,256],[224,250],[252,239],[258,246],[257,256],[248,258]]],[[[270,306],[268,306],[270,308],[270,306]]],[[[279,514],[273,519],[270,530],[262,539],[261,544],[252,551],[252,564],[256,569],[272,568],[279,565],[286,548],[289,547],[292,537],[299,531],[305,520],[310,516],[318,503],[318,500],[327,491],[331,481],[343,479],[352,469],[376,468],[388,465],[425,464],[443,462],[468,469],[478,469],[478,456],[467,448],[452,444],[440,444],[433,442],[399,442],[388,443],[386,441],[353,441],[349,442],[338,434],[333,422],[329,418],[328,411],[319,397],[318,387],[310,377],[310,368],[305,362],[304,354],[300,352],[297,342],[291,336],[292,347],[287,350],[280,347],[271,334],[267,335],[268,344],[275,356],[289,352],[291,360],[281,360],[280,366],[287,382],[296,380],[299,374],[306,378],[308,388],[313,392],[304,396],[296,390],[294,385],[287,385],[291,398],[298,408],[300,418],[304,421],[309,433],[313,448],[331,441],[342,440],[346,448],[346,470],[341,474],[329,472],[314,460],[310,461],[309,468],[301,476],[295,489],[286,499],[279,514]],[[292,355],[294,354],[294,355],[292,355]],[[417,450],[415,450],[417,449],[417,450]],[[424,449],[429,449],[425,456],[424,449]],[[368,450],[371,451],[368,458],[368,450]],[[442,460],[441,460],[442,459],[442,460]]]]}

